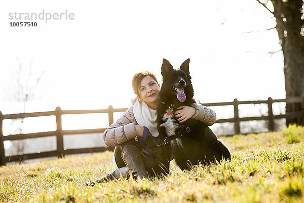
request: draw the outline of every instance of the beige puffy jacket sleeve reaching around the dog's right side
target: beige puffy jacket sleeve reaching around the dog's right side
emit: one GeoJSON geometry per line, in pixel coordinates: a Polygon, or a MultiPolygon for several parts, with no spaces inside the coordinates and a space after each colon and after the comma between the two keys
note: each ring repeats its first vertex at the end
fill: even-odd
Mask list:
{"type": "Polygon", "coordinates": [[[213,125],[216,122],[216,114],[213,110],[200,104],[192,104],[191,106],[196,109],[196,113],[192,118],[206,125],[213,125]]]}

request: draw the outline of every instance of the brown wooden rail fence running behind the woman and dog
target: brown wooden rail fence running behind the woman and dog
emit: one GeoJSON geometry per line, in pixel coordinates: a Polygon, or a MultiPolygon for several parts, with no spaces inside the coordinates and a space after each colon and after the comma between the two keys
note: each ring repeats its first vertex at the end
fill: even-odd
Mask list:
{"type": "MultiPolygon", "coordinates": [[[[202,104],[204,106],[234,106],[234,118],[228,119],[219,119],[217,123],[231,122],[234,123],[235,134],[240,133],[240,122],[241,121],[252,121],[252,120],[268,120],[269,131],[274,130],[274,120],[280,118],[293,119],[293,118],[304,118],[304,111],[286,113],[283,115],[273,115],[272,104],[273,103],[301,103],[304,107],[304,98],[294,97],[288,99],[272,99],[271,97],[268,100],[253,100],[253,101],[238,101],[234,99],[233,102],[224,102],[224,103],[207,103],[202,104]],[[239,117],[239,105],[246,104],[268,104],[268,116],[259,116],[259,117],[239,117]]],[[[304,109],[304,108],[303,108],[304,109]]],[[[92,114],[92,113],[107,113],[109,125],[113,123],[113,113],[114,112],[125,112],[127,108],[122,109],[113,109],[112,106],[109,106],[108,109],[100,110],[61,110],[60,107],[57,107],[55,111],[49,112],[34,112],[34,113],[21,113],[21,114],[2,114],[0,112],[0,165],[4,165],[9,161],[17,161],[20,159],[33,159],[33,158],[43,158],[50,156],[62,157],[68,154],[80,154],[80,153],[93,153],[93,152],[103,152],[105,150],[113,150],[110,147],[94,147],[94,148],[80,148],[80,149],[64,149],[63,145],[63,136],[66,134],[83,134],[83,133],[101,133],[104,132],[106,128],[96,128],[96,129],[79,129],[79,130],[62,130],[61,116],[66,114],[92,114]],[[4,119],[20,119],[20,118],[29,118],[29,117],[39,117],[39,116],[56,116],[56,130],[48,132],[36,132],[36,133],[27,133],[27,134],[10,134],[9,136],[3,135],[3,120],[4,119]],[[43,138],[55,136],[57,141],[57,149],[54,151],[32,153],[32,154],[19,154],[7,157],[5,156],[4,141],[14,141],[14,140],[23,140],[30,138],[43,138]]]]}

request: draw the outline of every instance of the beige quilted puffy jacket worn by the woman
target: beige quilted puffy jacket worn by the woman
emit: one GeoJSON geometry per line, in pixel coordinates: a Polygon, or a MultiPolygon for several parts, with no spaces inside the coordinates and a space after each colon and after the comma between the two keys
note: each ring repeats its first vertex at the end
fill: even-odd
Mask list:
{"type": "MultiPolygon", "coordinates": [[[[202,106],[200,104],[193,104],[192,107],[196,109],[195,115],[192,117],[207,125],[212,125],[216,122],[216,114],[213,110],[202,106]]],[[[109,147],[115,147],[127,140],[131,140],[138,136],[135,130],[137,121],[134,118],[133,106],[129,107],[127,111],[121,116],[116,123],[111,124],[103,133],[103,141],[109,147]]]]}

